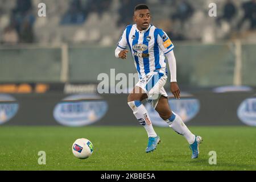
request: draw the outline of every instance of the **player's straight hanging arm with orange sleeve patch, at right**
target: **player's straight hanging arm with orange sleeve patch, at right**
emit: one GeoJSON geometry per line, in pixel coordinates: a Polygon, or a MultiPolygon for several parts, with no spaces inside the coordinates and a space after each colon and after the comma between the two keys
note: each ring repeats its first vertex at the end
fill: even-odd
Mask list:
{"type": "Polygon", "coordinates": [[[180,98],[180,89],[177,85],[177,78],[176,78],[176,59],[174,56],[174,45],[172,44],[170,38],[168,38],[166,32],[163,30],[159,30],[159,37],[158,38],[158,45],[160,49],[162,49],[164,55],[168,59],[168,64],[170,68],[171,74],[171,92],[174,94],[175,98],[180,98]]]}

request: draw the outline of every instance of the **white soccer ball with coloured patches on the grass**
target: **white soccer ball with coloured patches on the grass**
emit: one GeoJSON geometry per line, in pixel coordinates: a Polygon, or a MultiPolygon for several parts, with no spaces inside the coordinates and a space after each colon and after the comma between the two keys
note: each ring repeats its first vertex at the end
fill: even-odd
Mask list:
{"type": "Polygon", "coordinates": [[[86,159],[93,153],[93,144],[85,138],[77,139],[72,146],[73,154],[79,159],[86,159]]]}

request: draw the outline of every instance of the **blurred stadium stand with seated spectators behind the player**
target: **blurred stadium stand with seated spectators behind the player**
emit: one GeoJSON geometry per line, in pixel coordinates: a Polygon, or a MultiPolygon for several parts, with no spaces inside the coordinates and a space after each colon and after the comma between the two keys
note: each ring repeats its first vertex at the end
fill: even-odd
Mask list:
{"type": "MultiPolygon", "coordinates": [[[[61,3],[58,0],[1,0],[0,42],[114,45],[126,24],[133,23],[133,8],[137,3],[134,0],[61,3]],[[46,18],[37,16],[40,2],[46,3],[46,18]]],[[[141,3],[151,7],[152,23],[163,28],[172,40],[212,43],[232,38],[255,39],[255,34],[251,34],[256,27],[255,0],[144,0],[141,3]],[[211,2],[217,4],[217,18],[208,15],[211,2]]]]}

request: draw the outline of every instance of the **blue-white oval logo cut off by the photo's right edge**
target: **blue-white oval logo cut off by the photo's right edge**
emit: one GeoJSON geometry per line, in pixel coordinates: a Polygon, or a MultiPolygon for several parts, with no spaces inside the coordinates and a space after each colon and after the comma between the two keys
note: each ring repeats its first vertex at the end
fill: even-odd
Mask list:
{"type": "Polygon", "coordinates": [[[244,100],[237,110],[240,120],[249,126],[256,126],[256,97],[244,100]]]}

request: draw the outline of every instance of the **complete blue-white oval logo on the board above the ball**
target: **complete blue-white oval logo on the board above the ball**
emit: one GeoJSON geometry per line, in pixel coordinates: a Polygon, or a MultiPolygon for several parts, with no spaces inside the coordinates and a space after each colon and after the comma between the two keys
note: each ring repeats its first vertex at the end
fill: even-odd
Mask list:
{"type": "Polygon", "coordinates": [[[85,126],[99,121],[108,110],[108,104],[96,94],[69,96],[55,106],[53,117],[61,125],[85,126]]]}

